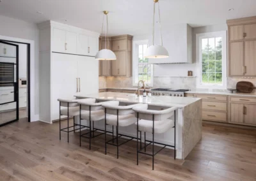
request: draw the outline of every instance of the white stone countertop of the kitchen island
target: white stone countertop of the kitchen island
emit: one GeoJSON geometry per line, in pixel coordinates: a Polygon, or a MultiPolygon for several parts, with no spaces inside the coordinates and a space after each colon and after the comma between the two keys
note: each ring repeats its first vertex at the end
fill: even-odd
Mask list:
{"type": "Polygon", "coordinates": [[[179,108],[184,108],[201,98],[180,98],[172,96],[152,96],[143,98],[143,96],[136,96],[136,94],[129,94],[124,92],[100,92],[96,94],[83,94],[82,92],[74,95],[77,98],[95,98],[100,100],[111,100],[120,101],[124,103],[145,103],[154,106],[177,106],[179,108]]]}

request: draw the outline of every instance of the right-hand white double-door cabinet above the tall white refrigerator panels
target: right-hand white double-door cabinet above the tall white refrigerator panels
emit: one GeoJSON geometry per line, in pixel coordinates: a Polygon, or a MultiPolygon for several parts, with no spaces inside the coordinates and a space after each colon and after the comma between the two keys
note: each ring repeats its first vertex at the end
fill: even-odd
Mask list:
{"type": "Polygon", "coordinates": [[[99,51],[99,38],[86,36],[84,34],[78,35],[78,54],[95,56],[99,51]]]}

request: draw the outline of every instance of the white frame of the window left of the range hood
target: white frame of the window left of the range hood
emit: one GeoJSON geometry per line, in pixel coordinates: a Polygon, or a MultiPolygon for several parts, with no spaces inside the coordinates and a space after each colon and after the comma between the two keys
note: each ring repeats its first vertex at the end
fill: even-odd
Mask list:
{"type": "MultiPolygon", "coordinates": [[[[132,41],[132,85],[137,86],[138,85],[138,79],[139,79],[139,62],[138,62],[138,57],[139,57],[139,45],[145,45],[148,44],[148,40],[137,40],[137,41],[132,41]]],[[[148,63],[149,64],[149,63],[148,63]]],[[[153,64],[150,64],[151,66],[151,82],[145,82],[145,85],[147,84],[150,87],[153,87],[153,81],[154,81],[154,69],[153,69],[153,64]]]]}

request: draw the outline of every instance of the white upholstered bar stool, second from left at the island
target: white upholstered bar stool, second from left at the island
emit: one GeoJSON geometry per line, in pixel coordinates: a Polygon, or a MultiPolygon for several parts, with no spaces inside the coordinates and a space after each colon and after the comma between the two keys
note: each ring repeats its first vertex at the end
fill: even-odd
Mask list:
{"type": "MultiPolygon", "coordinates": [[[[94,128],[94,122],[99,121],[99,120],[104,120],[104,108],[102,107],[102,103],[105,104],[111,104],[113,101],[104,101],[104,102],[97,102],[96,99],[93,98],[88,98],[88,99],[81,99],[77,100],[77,103],[79,104],[79,115],[80,115],[80,147],[81,147],[81,138],[88,138],[90,140],[90,149],[91,149],[91,139],[95,138],[97,136],[100,136],[102,134],[105,134],[105,130],[102,129],[95,129],[94,128]],[[81,120],[88,120],[89,121],[89,126],[82,126],[81,125],[81,120]],[[81,128],[82,127],[87,127],[89,128],[89,133],[84,133],[81,134],[81,128]],[[100,133],[95,135],[95,131],[102,131],[104,133],[100,133]],[[89,134],[89,136],[86,136],[86,134],[89,134]],[[93,134],[93,135],[92,135],[93,134]]],[[[112,127],[112,130],[114,127],[112,127]]],[[[112,133],[113,131],[108,133],[112,133]]]]}

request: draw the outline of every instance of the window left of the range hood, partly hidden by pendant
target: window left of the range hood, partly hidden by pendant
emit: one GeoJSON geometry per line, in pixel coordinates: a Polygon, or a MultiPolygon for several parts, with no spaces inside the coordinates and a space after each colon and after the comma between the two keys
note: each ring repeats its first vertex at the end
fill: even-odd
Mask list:
{"type": "Polygon", "coordinates": [[[139,80],[144,80],[149,86],[153,85],[153,65],[148,64],[148,59],[144,58],[147,48],[148,40],[133,41],[132,84],[134,86],[139,80]]]}

